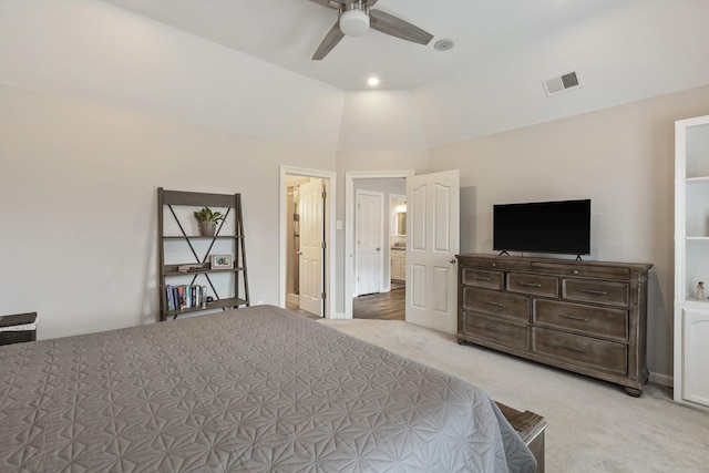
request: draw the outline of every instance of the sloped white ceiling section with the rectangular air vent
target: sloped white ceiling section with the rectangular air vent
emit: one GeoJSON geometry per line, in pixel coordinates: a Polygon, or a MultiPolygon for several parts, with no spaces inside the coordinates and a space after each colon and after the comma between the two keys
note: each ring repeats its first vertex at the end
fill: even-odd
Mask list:
{"type": "Polygon", "coordinates": [[[429,147],[709,83],[706,1],[615,3],[413,91],[429,147]],[[582,88],[547,97],[542,80],[572,70],[582,88]]]}

